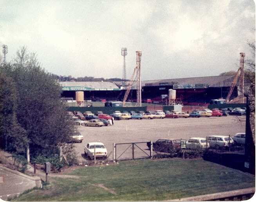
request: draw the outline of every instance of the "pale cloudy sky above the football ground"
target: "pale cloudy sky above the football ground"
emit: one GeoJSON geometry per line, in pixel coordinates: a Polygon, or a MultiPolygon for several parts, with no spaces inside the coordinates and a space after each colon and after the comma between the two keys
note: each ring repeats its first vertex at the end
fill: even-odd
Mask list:
{"type": "MultiPolygon", "coordinates": [[[[255,43],[253,0],[0,0],[7,62],[22,46],[49,73],[142,80],[236,71],[255,43]]],[[[2,53],[2,51],[1,51],[2,53]]]]}

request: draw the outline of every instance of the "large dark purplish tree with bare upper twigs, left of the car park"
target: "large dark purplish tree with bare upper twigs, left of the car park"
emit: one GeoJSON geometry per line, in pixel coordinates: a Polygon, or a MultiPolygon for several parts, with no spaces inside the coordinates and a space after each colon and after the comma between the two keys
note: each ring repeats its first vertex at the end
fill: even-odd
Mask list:
{"type": "Polygon", "coordinates": [[[22,47],[11,66],[2,69],[15,83],[16,119],[31,151],[69,142],[74,126],[60,102],[61,87],[52,74],[40,67],[36,55],[22,47]]]}

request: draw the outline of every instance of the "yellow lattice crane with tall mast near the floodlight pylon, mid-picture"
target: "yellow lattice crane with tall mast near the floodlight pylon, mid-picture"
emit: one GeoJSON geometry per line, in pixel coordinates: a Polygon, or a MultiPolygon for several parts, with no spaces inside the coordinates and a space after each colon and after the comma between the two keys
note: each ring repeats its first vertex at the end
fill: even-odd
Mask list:
{"type": "Polygon", "coordinates": [[[126,103],[127,97],[132,89],[132,85],[134,82],[137,82],[137,105],[141,106],[141,51],[136,51],[136,55],[136,67],[133,70],[132,77],[127,85],[128,87],[124,94],[123,106],[126,103]]]}

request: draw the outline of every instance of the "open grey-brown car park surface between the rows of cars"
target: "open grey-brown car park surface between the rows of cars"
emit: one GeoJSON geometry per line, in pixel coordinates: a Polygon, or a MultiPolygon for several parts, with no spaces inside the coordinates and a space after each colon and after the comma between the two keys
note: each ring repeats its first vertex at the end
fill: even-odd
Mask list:
{"type": "MultiPolygon", "coordinates": [[[[245,121],[240,121],[236,116],[188,119],[130,119],[116,120],[113,126],[99,128],[78,126],[78,130],[83,135],[84,140],[82,143],[76,143],[75,145],[79,160],[83,161],[85,159],[82,154],[88,142],[102,142],[105,144],[108,154],[110,154],[113,149],[113,143],[148,142],[150,140],[156,141],[160,138],[182,138],[188,140],[191,137],[206,138],[209,135],[234,136],[236,133],[245,132],[245,121]]],[[[119,146],[118,152],[120,153],[122,149],[124,151],[129,145],[119,146]]],[[[140,147],[148,153],[146,143],[141,144],[140,147]]],[[[138,155],[142,155],[142,153],[141,151],[138,155]]],[[[127,151],[122,157],[131,158],[131,155],[131,152],[127,151]]],[[[112,159],[112,154],[109,158],[112,159]]]]}

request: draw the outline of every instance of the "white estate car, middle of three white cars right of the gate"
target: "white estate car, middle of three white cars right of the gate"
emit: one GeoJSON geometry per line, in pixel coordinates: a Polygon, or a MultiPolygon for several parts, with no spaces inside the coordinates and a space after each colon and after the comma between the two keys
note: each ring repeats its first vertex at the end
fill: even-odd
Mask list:
{"type": "MultiPolygon", "coordinates": [[[[215,149],[220,149],[221,147],[229,147],[229,136],[224,135],[213,135],[208,136],[207,141],[209,142],[210,147],[215,149]]],[[[234,144],[232,138],[230,138],[230,144],[234,144]]]]}

